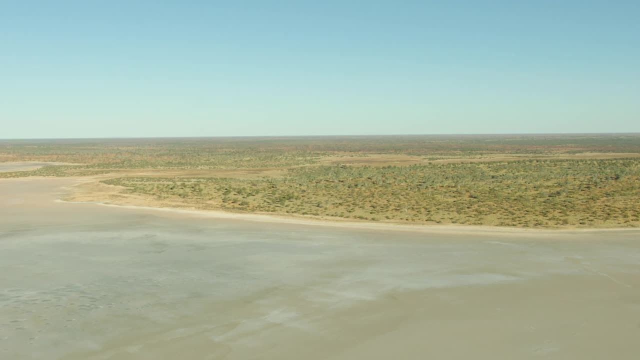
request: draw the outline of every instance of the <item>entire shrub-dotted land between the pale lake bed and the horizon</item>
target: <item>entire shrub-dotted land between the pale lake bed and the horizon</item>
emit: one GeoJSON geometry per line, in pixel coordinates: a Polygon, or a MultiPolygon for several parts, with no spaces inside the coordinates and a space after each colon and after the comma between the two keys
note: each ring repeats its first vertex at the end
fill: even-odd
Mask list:
{"type": "Polygon", "coordinates": [[[342,222],[640,226],[638,134],[4,140],[0,161],[76,164],[0,173],[86,179],[66,200],[342,222]]]}

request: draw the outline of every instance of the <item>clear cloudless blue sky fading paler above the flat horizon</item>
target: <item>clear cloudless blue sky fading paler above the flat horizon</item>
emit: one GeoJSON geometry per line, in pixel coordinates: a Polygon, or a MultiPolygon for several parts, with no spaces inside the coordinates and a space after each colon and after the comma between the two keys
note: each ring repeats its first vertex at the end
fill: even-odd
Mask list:
{"type": "Polygon", "coordinates": [[[638,0],[0,0],[0,138],[627,131],[638,0]]]}

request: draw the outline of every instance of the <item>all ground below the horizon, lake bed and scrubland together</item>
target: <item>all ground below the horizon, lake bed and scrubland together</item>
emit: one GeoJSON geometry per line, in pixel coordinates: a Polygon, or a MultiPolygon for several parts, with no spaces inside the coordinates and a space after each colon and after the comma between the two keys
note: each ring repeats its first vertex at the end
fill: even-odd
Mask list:
{"type": "Polygon", "coordinates": [[[636,359],[639,138],[0,142],[0,358],[636,359]]]}

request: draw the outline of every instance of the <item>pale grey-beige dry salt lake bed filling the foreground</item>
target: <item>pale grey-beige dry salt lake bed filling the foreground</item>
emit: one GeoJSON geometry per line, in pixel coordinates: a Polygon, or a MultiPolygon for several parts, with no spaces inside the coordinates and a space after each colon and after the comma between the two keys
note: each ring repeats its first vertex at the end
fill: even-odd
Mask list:
{"type": "Polygon", "coordinates": [[[392,231],[0,180],[0,359],[638,359],[639,231],[392,231]]]}

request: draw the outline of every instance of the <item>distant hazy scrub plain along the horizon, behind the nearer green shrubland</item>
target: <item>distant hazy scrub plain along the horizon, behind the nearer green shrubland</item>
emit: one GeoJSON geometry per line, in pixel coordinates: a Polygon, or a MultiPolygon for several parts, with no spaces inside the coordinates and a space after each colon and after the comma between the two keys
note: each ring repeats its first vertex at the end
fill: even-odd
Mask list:
{"type": "Polygon", "coordinates": [[[406,154],[426,160],[488,154],[640,154],[640,135],[405,135],[237,138],[0,140],[0,162],[52,161],[102,168],[248,168],[315,163],[346,154],[406,154]]]}

